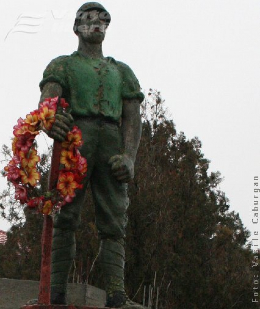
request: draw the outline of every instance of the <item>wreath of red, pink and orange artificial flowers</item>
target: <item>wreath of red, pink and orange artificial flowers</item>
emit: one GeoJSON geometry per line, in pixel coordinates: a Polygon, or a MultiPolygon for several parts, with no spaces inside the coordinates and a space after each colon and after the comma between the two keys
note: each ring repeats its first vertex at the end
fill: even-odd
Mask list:
{"type": "Polygon", "coordinates": [[[82,146],[82,132],[74,126],[62,142],[61,161],[64,167],[59,171],[55,189],[40,197],[33,197],[33,188],[39,184],[40,172],[37,163],[40,156],[36,150],[36,135],[41,130],[50,130],[55,121],[57,108],[61,112],[69,106],[65,99],[59,97],[45,99],[40,107],[25,119],[19,118],[14,126],[12,141],[13,158],[4,168],[5,176],[15,187],[15,199],[30,208],[38,207],[43,214],[54,214],[61,206],[73,200],[75,189],[82,188],[86,176],[87,162],[78,150],[82,146]]]}

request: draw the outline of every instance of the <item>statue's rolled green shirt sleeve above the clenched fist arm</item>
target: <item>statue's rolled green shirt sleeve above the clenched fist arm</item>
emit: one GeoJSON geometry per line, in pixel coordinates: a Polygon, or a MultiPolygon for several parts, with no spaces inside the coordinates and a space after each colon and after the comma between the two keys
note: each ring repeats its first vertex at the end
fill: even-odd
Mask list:
{"type": "Polygon", "coordinates": [[[145,96],[134,72],[123,62],[120,62],[120,66],[123,74],[122,99],[137,99],[141,103],[145,96]]]}

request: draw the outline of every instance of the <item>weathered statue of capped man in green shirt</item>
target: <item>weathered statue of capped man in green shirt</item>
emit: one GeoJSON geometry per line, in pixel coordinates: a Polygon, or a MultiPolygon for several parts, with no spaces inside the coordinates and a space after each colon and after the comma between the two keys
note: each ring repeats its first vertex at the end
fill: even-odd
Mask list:
{"type": "Polygon", "coordinates": [[[74,121],[82,130],[81,154],[88,163],[83,189],[54,218],[51,303],[66,303],[75,230],[90,182],[101,239],[99,262],[105,277],[106,307],[143,308],[134,305],[125,293],[124,238],[127,183],[134,177],[144,95],[126,64],[103,56],[102,42],[109,23],[110,15],[101,4],[83,4],[73,28],[79,40],[78,51],[53,59],[40,82],[40,102],[61,96],[69,103],[68,113],[56,117],[49,136],[63,141],[74,121]]]}

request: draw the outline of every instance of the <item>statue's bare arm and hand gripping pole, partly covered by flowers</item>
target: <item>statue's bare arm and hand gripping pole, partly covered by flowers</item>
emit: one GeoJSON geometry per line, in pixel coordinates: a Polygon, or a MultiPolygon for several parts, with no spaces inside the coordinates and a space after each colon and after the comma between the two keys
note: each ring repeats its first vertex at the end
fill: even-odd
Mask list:
{"type": "MultiPolygon", "coordinates": [[[[54,98],[57,96],[62,96],[61,85],[59,83],[47,83],[42,89],[39,104],[46,98],[54,98]]],[[[57,112],[55,118],[52,128],[46,131],[46,134],[56,141],[63,142],[70,130],[73,117],[69,113],[62,112],[62,114],[59,114],[57,112]]]]}

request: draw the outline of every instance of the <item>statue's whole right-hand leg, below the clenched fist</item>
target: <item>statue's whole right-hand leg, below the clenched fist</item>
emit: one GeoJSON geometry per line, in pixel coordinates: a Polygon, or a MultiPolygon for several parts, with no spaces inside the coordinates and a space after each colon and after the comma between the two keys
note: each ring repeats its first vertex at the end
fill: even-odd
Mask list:
{"type": "Polygon", "coordinates": [[[120,130],[115,125],[103,125],[99,136],[96,164],[91,176],[96,226],[101,238],[99,263],[104,275],[107,307],[119,308],[125,303],[124,238],[129,205],[127,184],[115,179],[109,159],[122,153],[120,130]]]}

